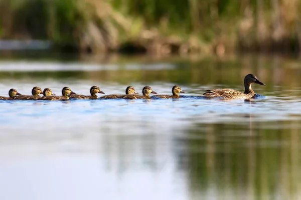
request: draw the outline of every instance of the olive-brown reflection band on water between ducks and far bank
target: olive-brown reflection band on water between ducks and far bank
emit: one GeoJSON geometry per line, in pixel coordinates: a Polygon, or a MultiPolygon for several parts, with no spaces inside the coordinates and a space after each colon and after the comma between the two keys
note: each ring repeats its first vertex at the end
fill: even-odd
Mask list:
{"type": "MultiPolygon", "coordinates": [[[[37,60],[36,60],[37,61],[37,60]]],[[[45,61],[45,60],[44,60],[45,61]]],[[[74,61],[73,61],[74,62],[74,61]]],[[[40,63],[35,62],[35,63],[40,63]]],[[[41,69],[43,69],[41,60],[41,69]]],[[[46,62],[47,63],[47,62],[46,62]]],[[[49,62],[52,63],[52,62],[49,62]]],[[[72,62],[58,62],[60,67],[68,70],[72,62]],[[64,65],[68,64],[69,65],[64,65]]],[[[243,90],[243,78],[254,73],[265,87],[256,85],[254,88],[272,91],[275,85],[288,89],[300,87],[301,66],[298,60],[277,56],[245,55],[237,57],[206,57],[198,59],[140,59],[134,57],[108,60],[80,60],[83,70],[71,71],[2,71],[0,79],[5,78],[56,78],[56,79],[91,79],[93,81],[117,82],[132,84],[141,82],[149,84],[155,81],[173,82],[179,85],[226,85],[243,90]],[[93,64],[96,69],[85,70],[85,64],[93,64]],[[101,66],[106,68],[101,68],[101,66]],[[158,68],[158,65],[159,68],[158,68]],[[100,66],[100,69],[97,69],[100,66]],[[133,67],[134,66],[134,67],[133,67]]],[[[81,65],[79,67],[81,67],[81,65]]]]}

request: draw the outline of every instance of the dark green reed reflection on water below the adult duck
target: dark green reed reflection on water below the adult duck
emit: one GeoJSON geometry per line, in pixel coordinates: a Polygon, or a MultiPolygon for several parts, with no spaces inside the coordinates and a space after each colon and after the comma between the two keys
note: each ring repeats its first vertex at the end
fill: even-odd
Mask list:
{"type": "Polygon", "coordinates": [[[228,199],[297,199],[299,124],[194,124],[180,139],[188,147],[187,161],[182,162],[189,168],[191,192],[216,188],[218,196],[228,199]]]}

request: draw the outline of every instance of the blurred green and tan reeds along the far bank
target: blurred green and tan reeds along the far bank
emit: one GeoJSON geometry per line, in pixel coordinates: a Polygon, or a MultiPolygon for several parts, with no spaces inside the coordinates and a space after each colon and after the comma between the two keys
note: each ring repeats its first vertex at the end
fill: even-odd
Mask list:
{"type": "Polygon", "coordinates": [[[1,39],[63,51],[299,50],[300,0],[0,0],[1,39]]]}

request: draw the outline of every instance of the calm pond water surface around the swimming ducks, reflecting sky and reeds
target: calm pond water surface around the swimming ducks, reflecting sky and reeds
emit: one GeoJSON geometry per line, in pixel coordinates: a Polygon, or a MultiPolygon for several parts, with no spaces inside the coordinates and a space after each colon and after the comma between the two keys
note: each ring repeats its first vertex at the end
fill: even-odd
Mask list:
{"type": "MultiPolygon", "coordinates": [[[[301,65],[278,56],[0,60],[0,95],[33,86],[179,99],[0,100],[0,199],[301,199],[301,65]],[[252,100],[203,99],[205,89],[252,100]]],[[[102,95],[102,94],[100,94],[102,95]]]]}

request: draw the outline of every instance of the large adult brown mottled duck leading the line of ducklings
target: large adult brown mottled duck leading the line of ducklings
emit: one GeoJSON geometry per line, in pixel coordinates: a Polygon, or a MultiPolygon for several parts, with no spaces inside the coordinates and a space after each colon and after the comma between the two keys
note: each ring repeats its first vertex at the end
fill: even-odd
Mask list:
{"type": "Polygon", "coordinates": [[[253,83],[265,85],[263,82],[261,82],[255,75],[253,74],[248,74],[244,78],[244,86],[245,86],[245,91],[237,91],[234,89],[210,89],[206,90],[205,93],[203,93],[204,96],[207,97],[224,97],[228,99],[234,99],[234,98],[254,98],[255,92],[251,88],[251,85],[253,83]]]}

